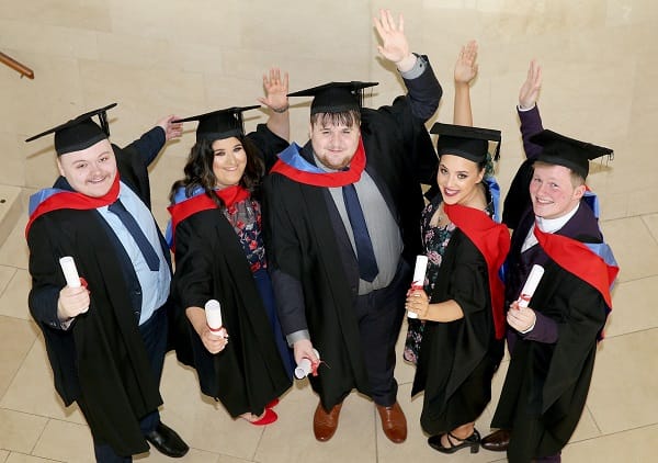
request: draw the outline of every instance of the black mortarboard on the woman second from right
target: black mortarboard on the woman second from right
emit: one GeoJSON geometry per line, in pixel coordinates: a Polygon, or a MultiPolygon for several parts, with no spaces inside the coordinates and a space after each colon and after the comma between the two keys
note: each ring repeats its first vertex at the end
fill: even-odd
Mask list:
{"type": "Polygon", "coordinates": [[[487,159],[489,142],[496,142],[494,159],[498,160],[500,157],[500,131],[438,122],[430,133],[439,135],[436,142],[439,156],[455,155],[479,163],[487,159]]]}

